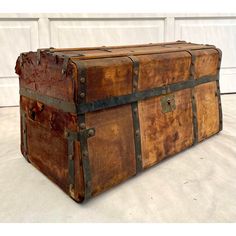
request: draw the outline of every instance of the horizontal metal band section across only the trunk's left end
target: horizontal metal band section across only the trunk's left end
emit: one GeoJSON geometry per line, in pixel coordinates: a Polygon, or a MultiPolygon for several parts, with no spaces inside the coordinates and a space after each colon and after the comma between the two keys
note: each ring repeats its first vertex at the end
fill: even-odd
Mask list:
{"type": "Polygon", "coordinates": [[[31,89],[20,88],[20,95],[44,103],[45,105],[55,107],[64,112],[76,113],[76,105],[73,102],[62,101],[58,98],[41,95],[31,89]]]}

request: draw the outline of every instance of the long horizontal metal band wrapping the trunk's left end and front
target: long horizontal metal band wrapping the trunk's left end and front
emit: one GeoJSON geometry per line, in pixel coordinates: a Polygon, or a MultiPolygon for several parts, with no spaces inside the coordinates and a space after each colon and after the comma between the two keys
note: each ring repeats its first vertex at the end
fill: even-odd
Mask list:
{"type": "Polygon", "coordinates": [[[193,88],[199,84],[209,83],[212,81],[219,80],[219,75],[215,76],[204,76],[197,80],[186,80],[175,84],[170,84],[167,86],[156,87],[153,89],[134,92],[132,94],[127,94],[119,97],[112,97],[104,100],[98,100],[88,103],[80,103],[80,101],[75,104],[73,102],[62,101],[58,98],[52,98],[46,95],[41,95],[31,89],[20,88],[20,95],[28,97],[32,100],[37,100],[44,103],[45,105],[52,106],[56,109],[62,110],[64,112],[84,114],[86,112],[97,111],[101,109],[106,109],[114,106],[124,105],[127,103],[132,103],[151,97],[159,96],[162,94],[167,94],[170,92],[179,91],[185,88],[193,88]]]}

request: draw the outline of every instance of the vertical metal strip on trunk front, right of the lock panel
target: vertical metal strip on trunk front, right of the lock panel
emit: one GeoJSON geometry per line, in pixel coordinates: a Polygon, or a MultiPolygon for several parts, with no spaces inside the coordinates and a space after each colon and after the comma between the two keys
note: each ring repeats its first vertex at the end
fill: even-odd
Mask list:
{"type": "MultiPolygon", "coordinates": [[[[190,65],[190,72],[189,72],[190,73],[190,78],[189,78],[189,80],[192,81],[195,84],[197,81],[199,81],[199,80],[195,80],[195,78],[194,78],[194,75],[195,75],[194,63],[195,63],[196,57],[192,54],[192,52],[190,50],[186,50],[186,52],[188,52],[191,56],[191,65],[190,65]]],[[[193,145],[198,143],[197,106],[196,106],[196,98],[195,98],[195,93],[194,93],[194,87],[191,90],[192,111],[193,111],[193,135],[194,135],[193,145]]]]}

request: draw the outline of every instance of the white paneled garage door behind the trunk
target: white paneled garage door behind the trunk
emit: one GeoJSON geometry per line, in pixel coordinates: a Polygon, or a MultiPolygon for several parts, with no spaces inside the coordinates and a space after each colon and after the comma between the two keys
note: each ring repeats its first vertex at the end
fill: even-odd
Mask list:
{"type": "Polygon", "coordinates": [[[0,106],[19,104],[20,52],[180,39],[222,49],[221,92],[236,92],[236,14],[0,14],[0,106]]]}

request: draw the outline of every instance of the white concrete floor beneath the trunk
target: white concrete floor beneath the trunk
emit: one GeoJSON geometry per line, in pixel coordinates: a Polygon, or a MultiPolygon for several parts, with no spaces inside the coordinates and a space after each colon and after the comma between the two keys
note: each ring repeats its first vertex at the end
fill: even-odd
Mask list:
{"type": "Polygon", "coordinates": [[[224,130],[77,204],[20,154],[19,108],[0,109],[0,222],[235,222],[236,95],[224,130]]]}

